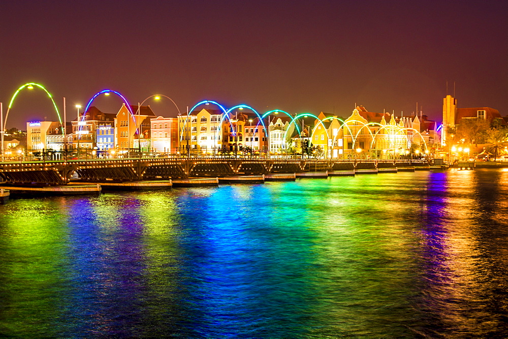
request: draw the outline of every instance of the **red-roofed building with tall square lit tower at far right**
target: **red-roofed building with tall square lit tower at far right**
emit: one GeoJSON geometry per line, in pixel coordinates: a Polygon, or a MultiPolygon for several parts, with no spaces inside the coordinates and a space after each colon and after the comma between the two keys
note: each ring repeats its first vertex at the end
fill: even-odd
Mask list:
{"type": "Polygon", "coordinates": [[[443,128],[441,131],[441,145],[446,145],[450,139],[448,128],[454,128],[462,119],[482,119],[492,122],[496,119],[505,124],[498,110],[490,107],[457,108],[457,99],[447,95],[443,99],[443,128]]]}

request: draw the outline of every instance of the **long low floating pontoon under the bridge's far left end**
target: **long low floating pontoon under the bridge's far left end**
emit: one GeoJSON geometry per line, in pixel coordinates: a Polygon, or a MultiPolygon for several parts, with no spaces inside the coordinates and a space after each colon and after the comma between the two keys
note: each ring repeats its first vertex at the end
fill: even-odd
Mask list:
{"type": "Polygon", "coordinates": [[[81,195],[101,193],[99,184],[86,185],[58,185],[58,186],[3,186],[0,189],[9,190],[11,196],[54,196],[81,195]]]}

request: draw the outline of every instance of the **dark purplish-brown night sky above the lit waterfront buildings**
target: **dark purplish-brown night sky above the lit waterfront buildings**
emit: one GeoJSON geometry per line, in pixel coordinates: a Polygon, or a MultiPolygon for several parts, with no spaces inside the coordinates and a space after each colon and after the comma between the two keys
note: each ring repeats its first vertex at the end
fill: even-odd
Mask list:
{"type": "MultiPolygon", "coordinates": [[[[2,1],[0,101],[43,84],[67,115],[102,89],[131,104],[170,96],[259,112],[369,111],[441,120],[442,98],[508,114],[507,1],[2,1]]],[[[176,116],[169,100],[148,102],[176,116]]],[[[113,96],[94,101],[116,113],[113,96]]],[[[18,95],[7,128],[57,120],[41,90],[18,95]]],[[[68,118],[68,120],[70,120],[68,118]]]]}

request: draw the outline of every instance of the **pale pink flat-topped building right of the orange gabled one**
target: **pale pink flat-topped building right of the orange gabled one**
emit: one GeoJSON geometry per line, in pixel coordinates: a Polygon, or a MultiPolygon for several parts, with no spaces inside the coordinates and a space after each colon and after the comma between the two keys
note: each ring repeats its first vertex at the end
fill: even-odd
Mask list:
{"type": "Polygon", "coordinates": [[[150,119],[152,151],[175,154],[178,148],[178,119],[158,116],[150,119]]]}

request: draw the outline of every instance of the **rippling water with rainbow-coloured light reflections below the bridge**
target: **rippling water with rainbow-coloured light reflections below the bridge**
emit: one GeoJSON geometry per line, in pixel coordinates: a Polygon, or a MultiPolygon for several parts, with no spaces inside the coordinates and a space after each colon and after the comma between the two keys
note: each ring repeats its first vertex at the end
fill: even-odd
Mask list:
{"type": "Polygon", "coordinates": [[[0,335],[508,335],[508,172],[12,199],[0,335]]]}

